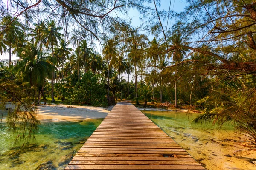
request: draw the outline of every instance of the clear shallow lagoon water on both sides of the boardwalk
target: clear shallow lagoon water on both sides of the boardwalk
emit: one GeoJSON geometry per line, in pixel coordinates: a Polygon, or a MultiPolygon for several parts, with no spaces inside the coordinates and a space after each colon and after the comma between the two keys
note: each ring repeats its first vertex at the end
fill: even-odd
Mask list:
{"type": "MultiPolygon", "coordinates": [[[[207,169],[256,170],[256,166],[247,162],[248,159],[256,158],[256,151],[244,150],[249,147],[243,147],[242,142],[224,140],[238,140],[232,125],[225,125],[224,130],[219,131],[217,125],[190,124],[198,113],[145,110],[142,112],[192,157],[205,164],[207,169]],[[228,154],[232,157],[224,156],[228,154]]],[[[35,135],[36,141],[31,141],[26,150],[20,150],[20,145],[14,145],[15,136],[3,125],[3,129],[0,130],[0,169],[35,170],[44,164],[43,169],[63,170],[102,120],[44,122],[35,135]]]]}

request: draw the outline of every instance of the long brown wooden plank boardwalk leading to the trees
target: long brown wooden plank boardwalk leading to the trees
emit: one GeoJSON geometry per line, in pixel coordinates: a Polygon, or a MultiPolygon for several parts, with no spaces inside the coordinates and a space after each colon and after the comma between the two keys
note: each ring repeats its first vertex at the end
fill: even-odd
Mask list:
{"type": "Polygon", "coordinates": [[[66,170],[204,170],[130,103],[118,103],[66,170]]]}

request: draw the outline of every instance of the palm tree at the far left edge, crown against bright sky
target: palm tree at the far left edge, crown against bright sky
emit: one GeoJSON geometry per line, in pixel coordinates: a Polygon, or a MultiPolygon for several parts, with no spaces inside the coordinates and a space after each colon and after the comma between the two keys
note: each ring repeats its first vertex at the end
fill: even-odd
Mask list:
{"type": "Polygon", "coordinates": [[[12,16],[6,15],[1,19],[0,27],[4,28],[3,34],[0,35],[0,52],[6,52],[9,46],[9,66],[12,63],[12,48],[19,47],[24,42],[24,31],[19,19],[12,20],[12,16]]]}

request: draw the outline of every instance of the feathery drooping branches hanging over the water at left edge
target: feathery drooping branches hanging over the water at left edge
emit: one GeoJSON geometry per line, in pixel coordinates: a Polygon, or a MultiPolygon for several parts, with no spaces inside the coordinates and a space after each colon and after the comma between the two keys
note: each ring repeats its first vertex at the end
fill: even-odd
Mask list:
{"type": "MultiPolygon", "coordinates": [[[[9,130],[16,134],[15,142],[23,141],[23,146],[29,144],[34,137],[40,122],[36,119],[36,108],[31,105],[28,89],[22,88],[14,80],[0,79],[0,108],[8,108],[6,123],[9,130]]],[[[0,125],[3,123],[3,112],[0,125]]]]}

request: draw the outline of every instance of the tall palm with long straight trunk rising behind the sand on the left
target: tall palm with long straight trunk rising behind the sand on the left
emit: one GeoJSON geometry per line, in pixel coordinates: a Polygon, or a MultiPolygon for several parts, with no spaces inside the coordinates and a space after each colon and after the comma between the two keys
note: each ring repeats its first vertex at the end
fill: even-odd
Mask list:
{"type": "Polygon", "coordinates": [[[54,99],[54,80],[55,80],[55,65],[56,65],[56,58],[54,56],[54,46],[58,45],[58,40],[61,40],[63,34],[61,34],[59,31],[61,31],[61,27],[56,26],[56,22],[54,20],[47,21],[47,28],[42,30],[42,39],[46,39],[46,47],[49,48],[49,45],[52,47],[52,102],[55,102],[54,99]]]}

